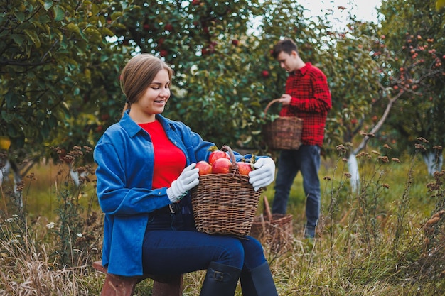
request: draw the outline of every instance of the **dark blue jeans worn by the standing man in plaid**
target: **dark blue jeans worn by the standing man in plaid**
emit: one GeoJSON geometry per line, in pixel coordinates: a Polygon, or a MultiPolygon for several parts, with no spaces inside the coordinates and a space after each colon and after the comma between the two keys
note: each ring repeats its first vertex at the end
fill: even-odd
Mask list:
{"type": "Polygon", "coordinates": [[[299,150],[282,150],[279,153],[275,196],[272,212],[286,214],[289,192],[298,172],[303,177],[306,195],[306,236],[313,237],[320,215],[320,147],[302,145],[299,150]]]}

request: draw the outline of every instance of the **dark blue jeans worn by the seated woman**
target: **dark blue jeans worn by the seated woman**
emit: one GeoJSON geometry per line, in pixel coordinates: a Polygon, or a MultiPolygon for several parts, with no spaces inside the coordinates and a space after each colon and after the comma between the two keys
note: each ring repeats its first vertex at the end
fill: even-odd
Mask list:
{"type": "Polygon", "coordinates": [[[266,261],[256,239],[203,234],[185,227],[181,213],[149,216],[142,250],[149,274],[190,273],[210,262],[251,270],[266,261]]]}

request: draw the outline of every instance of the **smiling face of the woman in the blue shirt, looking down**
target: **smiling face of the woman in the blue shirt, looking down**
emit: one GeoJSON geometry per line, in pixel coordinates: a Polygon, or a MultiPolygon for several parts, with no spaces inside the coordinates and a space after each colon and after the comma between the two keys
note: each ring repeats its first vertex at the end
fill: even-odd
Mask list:
{"type": "Polygon", "coordinates": [[[141,98],[132,104],[129,115],[138,124],[153,122],[155,114],[161,114],[170,97],[170,77],[163,69],[154,77],[153,82],[142,94],[141,98]]]}

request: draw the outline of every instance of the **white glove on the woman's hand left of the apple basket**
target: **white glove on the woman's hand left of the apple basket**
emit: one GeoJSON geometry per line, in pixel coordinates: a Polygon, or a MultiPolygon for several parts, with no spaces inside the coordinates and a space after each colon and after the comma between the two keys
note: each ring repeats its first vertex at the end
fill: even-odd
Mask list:
{"type": "Polygon", "coordinates": [[[178,179],[171,182],[171,187],[167,188],[168,199],[178,202],[183,199],[193,187],[199,184],[199,169],[195,168],[196,163],[192,163],[185,168],[178,179]]]}

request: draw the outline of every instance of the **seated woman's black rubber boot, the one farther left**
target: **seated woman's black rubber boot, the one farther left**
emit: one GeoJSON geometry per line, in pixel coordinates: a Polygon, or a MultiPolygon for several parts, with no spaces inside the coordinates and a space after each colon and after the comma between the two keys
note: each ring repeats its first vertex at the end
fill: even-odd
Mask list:
{"type": "Polygon", "coordinates": [[[212,262],[208,266],[200,296],[233,296],[241,270],[229,265],[212,262]]]}

